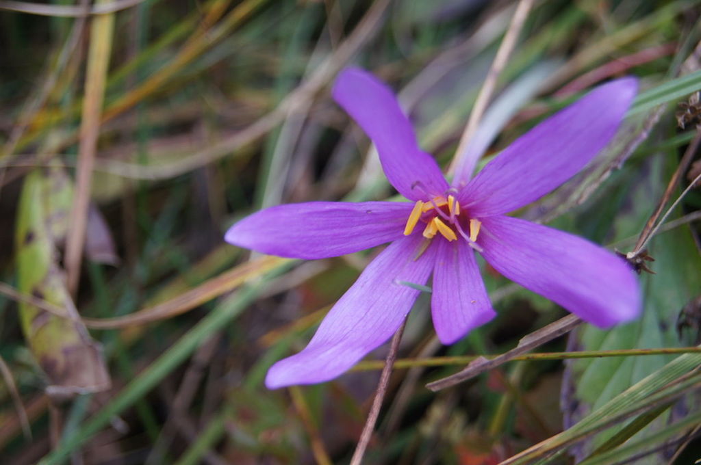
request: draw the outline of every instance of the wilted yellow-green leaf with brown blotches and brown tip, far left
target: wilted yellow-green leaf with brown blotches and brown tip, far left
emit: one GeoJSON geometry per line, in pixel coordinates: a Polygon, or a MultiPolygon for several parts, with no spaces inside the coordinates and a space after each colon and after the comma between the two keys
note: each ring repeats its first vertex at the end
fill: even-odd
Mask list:
{"type": "Polygon", "coordinates": [[[22,188],[15,243],[18,287],[23,293],[61,307],[58,317],[34,305],[20,303],[20,322],[27,343],[48,376],[49,394],[102,391],[110,385],[102,349],[90,338],[65,287],[56,263],[50,235],[50,216],[44,208],[52,195],[38,171],[27,176],[22,188]]]}

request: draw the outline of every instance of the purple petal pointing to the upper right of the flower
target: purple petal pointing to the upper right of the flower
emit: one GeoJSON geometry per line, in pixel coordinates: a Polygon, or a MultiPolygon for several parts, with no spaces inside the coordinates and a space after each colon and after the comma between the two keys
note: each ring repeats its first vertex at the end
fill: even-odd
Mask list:
{"type": "Polygon", "coordinates": [[[608,144],[636,91],[634,78],[592,90],[516,139],[465,186],[458,200],[482,217],[507,213],[549,193],[608,144]]]}

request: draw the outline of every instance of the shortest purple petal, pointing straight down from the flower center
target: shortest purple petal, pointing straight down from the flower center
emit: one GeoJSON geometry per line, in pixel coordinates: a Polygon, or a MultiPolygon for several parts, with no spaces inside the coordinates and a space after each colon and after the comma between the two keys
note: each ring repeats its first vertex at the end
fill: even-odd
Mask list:
{"type": "Polygon", "coordinates": [[[452,344],[496,316],[475,252],[465,241],[437,241],[431,312],[443,344],[452,344]]]}

